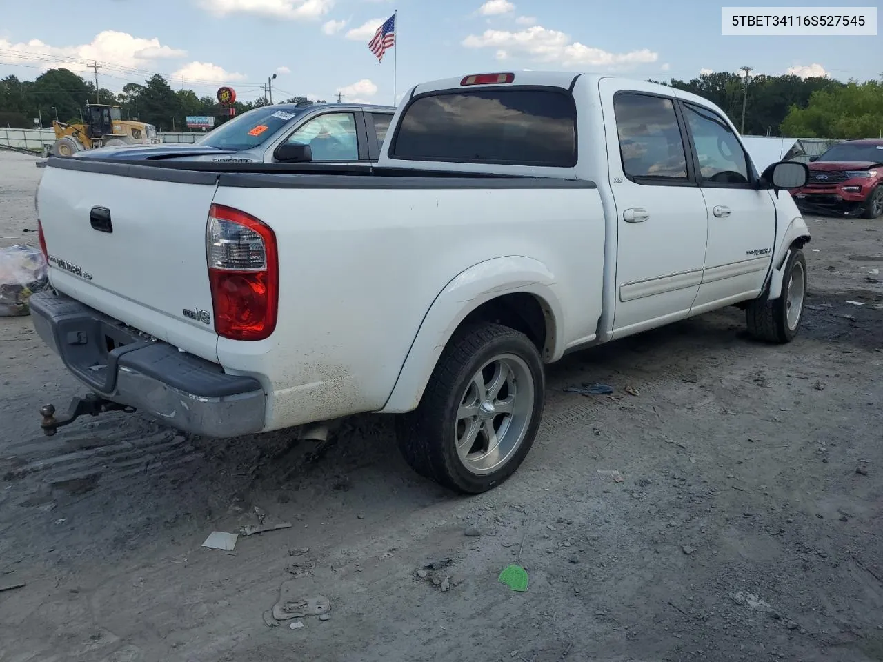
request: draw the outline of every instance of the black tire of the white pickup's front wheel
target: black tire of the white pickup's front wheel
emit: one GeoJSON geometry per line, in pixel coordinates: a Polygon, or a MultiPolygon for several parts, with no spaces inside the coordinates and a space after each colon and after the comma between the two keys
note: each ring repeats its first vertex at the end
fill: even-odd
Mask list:
{"type": "Polygon", "coordinates": [[[781,284],[781,295],[770,301],[766,293],[745,308],[745,321],[748,325],[748,333],[756,340],[763,342],[775,342],[784,344],[794,340],[800,330],[800,323],[804,319],[806,303],[806,260],[804,252],[799,248],[792,249],[788,262],[785,264],[785,275],[781,284]],[[796,321],[792,318],[789,324],[789,310],[798,302],[791,301],[789,296],[792,291],[797,296],[798,287],[796,278],[802,276],[803,292],[800,297],[800,312],[796,315],[796,321]]]}

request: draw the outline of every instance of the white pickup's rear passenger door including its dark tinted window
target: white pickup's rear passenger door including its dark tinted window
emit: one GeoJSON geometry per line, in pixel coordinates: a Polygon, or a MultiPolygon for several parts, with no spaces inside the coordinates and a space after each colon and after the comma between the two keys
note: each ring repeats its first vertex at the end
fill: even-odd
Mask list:
{"type": "Polygon", "coordinates": [[[674,98],[601,79],[619,231],[614,337],[687,317],[706,257],[706,204],[674,98]]]}

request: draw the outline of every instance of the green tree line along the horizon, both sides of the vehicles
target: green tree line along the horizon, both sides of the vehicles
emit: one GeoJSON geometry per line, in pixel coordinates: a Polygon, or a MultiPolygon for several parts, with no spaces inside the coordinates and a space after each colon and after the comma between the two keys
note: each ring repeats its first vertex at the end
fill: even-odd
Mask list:
{"type": "MultiPolygon", "coordinates": [[[[883,132],[883,83],[799,76],[755,76],[745,83],[736,73],[702,74],[691,80],[671,79],[651,82],[677,87],[698,94],[727,112],[747,135],[787,135],[792,138],[877,138],[883,132]]],[[[174,90],[156,74],[143,85],[128,83],[120,93],[101,88],[67,69],[50,69],[34,80],[15,76],[0,79],[0,126],[27,128],[34,117],[49,125],[56,117],[62,122],[79,122],[87,101],[122,107],[125,119],[154,124],[160,131],[185,130],[188,115],[221,117],[213,96],[199,96],[191,89],[174,90]]],[[[295,96],[286,102],[303,102],[295,96]]],[[[319,100],[313,100],[319,101],[319,100]]],[[[267,105],[264,98],[236,102],[237,113],[267,105]]]]}

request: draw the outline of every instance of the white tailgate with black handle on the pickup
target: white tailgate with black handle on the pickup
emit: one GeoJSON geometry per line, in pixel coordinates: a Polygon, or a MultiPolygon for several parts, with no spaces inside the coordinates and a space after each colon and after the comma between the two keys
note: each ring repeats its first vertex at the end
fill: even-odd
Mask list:
{"type": "Polygon", "coordinates": [[[71,159],[45,170],[38,214],[59,291],[178,348],[217,360],[206,223],[210,173],[71,159]],[[87,169],[83,169],[86,167],[87,169]]]}

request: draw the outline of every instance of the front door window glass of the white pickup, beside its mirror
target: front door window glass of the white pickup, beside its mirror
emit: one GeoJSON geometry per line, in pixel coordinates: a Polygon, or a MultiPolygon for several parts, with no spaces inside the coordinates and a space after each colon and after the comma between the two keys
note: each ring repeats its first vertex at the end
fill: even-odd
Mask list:
{"type": "Polygon", "coordinates": [[[729,125],[712,110],[686,104],[703,184],[748,184],[748,156],[729,125]]]}

